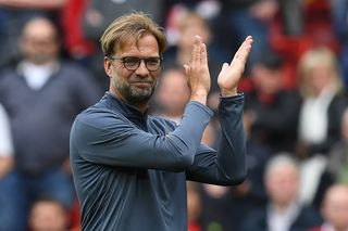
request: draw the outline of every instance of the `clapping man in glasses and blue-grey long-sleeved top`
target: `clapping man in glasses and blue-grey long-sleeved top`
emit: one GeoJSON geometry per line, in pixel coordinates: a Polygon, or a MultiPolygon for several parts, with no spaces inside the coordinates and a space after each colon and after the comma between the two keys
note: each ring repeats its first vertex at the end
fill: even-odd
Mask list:
{"type": "Polygon", "coordinates": [[[83,230],[187,230],[186,180],[237,184],[246,177],[244,95],[237,93],[252,38],[219,76],[222,142],[200,145],[212,117],[207,49],[196,37],[185,65],[190,88],[179,126],[147,115],[166,40],[144,13],[114,21],[101,37],[109,92],[79,114],[71,163],[83,230]]]}

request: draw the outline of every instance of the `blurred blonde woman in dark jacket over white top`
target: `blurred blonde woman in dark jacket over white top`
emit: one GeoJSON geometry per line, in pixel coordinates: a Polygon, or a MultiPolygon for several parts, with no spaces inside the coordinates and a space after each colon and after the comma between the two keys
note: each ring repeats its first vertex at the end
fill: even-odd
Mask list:
{"type": "Polygon", "coordinates": [[[324,170],[330,150],[339,140],[347,98],[336,55],[327,48],[308,50],[299,61],[299,91],[302,98],[296,154],[301,159],[299,197],[320,205],[326,182],[324,170]]]}

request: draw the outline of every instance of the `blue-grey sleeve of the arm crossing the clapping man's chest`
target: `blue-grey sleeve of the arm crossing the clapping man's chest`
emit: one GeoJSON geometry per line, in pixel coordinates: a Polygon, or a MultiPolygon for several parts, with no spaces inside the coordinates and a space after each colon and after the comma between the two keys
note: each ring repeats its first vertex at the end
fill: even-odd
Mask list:
{"type": "Polygon", "coordinates": [[[96,164],[179,171],[194,163],[212,112],[190,102],[181,125],[164,134],[146,132],[111,113],[96,116],[97,119],[76,118],[71,132],[72,155],[78,153],[96,164]]]}

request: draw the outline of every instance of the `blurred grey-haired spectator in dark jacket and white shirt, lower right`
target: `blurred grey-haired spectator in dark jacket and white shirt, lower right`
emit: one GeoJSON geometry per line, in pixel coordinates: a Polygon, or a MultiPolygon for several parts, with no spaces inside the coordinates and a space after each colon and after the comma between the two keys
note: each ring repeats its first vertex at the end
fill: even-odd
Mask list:
{"type": "Polygon", "coordinates": [[[297,201],[299,182],[299,166],[291,155],[279,153],[270,159],[264,175],[269,203],[246,217],[241,231],[297,231],[319,226],[318,210],[297,201]]]}

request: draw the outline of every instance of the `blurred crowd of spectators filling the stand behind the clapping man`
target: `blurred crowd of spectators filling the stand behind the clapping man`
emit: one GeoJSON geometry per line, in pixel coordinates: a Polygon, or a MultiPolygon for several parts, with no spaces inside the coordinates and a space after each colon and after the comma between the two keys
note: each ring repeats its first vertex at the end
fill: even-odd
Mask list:
{"type": "MultiPolygon", "coordinates": [[[[70,128],[108,90],[99,39],[130,11],[166,33],[149,113],[178,124],[194,36],[208,46],[213,111],[222,64],[254,40],[239,85],[248,177],[187,182],[188,230],[347,231],[347,0],[0,0],[0,231],[79,230],[70,128]]],[[[202,142],[216,147],[219,129],[213,119],[202,142]]]]}

